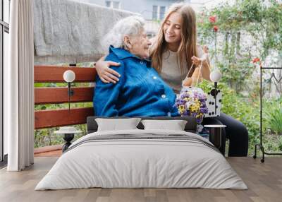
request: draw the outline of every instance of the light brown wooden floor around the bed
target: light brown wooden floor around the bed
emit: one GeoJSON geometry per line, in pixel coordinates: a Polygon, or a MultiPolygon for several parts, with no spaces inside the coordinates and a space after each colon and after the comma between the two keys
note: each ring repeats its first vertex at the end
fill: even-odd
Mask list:
{"type": "Polygon", "coordinates": [[[0,201],[282,201],[282,158],[227,158],[248,190],[214,189],[72,189],[34,191],[58,158],[37,157],[23,172],[0,170],[0,201]]]}

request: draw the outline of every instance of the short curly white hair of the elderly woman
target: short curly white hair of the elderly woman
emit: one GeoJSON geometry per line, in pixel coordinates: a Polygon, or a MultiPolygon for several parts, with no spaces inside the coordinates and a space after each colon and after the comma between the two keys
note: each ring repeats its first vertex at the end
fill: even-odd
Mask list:
{"type": "Polygon", "coordinates": [[[144,30],[145,20],[141,16],[129,16],[123,18],[114,25],[114,28],[102,40],[102,46],[105,50],[109,49],[112,45],[116,48],[124,46],[123,38],[125,35],[137,36],[144,30]]]}

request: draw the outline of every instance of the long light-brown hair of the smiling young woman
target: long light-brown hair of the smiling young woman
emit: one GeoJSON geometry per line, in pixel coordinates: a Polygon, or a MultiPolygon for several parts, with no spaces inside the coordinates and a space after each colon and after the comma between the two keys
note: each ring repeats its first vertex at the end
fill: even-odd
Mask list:
{"type": "MultiPolygon", "coordinates": [[[[180,35],[181,41],[177,50],[178,61],[180,61],[180,71],[184,72],[184,63],[187,64],[187,68],[190,69],[192,66],[191,57],[197,54],[197,23],[196,23],[196,14],[191,6],[188,4],[178,3],[173,4],[168,9],[164,21],[161,23],[159,28],[159,33],[157,35],[157,41],[152,46],[152,51],[150,52],[150,57],[152,59],[152,66],[159,73],[161,73],[162,67],[162,57],[164,52],[168,49],[168,44],[164,39],[164,24],[166,20],[171,15],[171,13],[176,12],[181,16],[180,23],[180,35]]],[[[179,66],[178,66],[179,67],[179,66]]],[[[189,76],[192,76],[195,66],[192,66],[192,69],[189,73],[189,76]]]]}

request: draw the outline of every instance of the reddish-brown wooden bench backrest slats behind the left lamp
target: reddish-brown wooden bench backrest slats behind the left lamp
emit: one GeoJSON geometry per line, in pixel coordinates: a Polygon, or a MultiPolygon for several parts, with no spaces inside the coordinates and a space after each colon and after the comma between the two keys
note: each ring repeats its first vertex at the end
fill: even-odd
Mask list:
{"type": "MultiPolygon", "coordinates": [[[[90,67],[35,66],[35,83],[66,83],[63,73],[75,72],[74,83],[94,83],[96,69],[90,67]]],[[[72,87],[71,103],[92,102],[94,87],[72,87]]],[[[35,105],[68,103],[67,87],[35,88],[35,105]]],[[[35,111],[35,129],[85,124],[93,116],[93,107],[44,109],[35,111]]]]}

